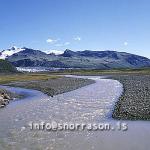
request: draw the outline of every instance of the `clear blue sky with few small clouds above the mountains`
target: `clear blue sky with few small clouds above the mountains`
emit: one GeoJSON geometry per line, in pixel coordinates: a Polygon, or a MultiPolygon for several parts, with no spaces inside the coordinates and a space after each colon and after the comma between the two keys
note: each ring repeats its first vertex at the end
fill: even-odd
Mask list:
{"type": "Polygon", "coordinates": [[[0,0],[0,50],[11,46],[150,58],[150,1],[0,0]]]}

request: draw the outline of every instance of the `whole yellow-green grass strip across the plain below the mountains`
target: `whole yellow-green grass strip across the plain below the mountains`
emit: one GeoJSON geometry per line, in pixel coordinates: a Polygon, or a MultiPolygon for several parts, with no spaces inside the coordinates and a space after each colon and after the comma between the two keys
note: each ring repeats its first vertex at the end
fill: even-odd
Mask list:
{"type": "Polygon", "coordinates": [[[0,84],[7,84],[16,81],[41,81],[48,79],[60,78],[58,75],[73,74],[73,75],[115,75],[115,74],[150,74],[150,68],[142,69],[112,69],[112,70],[96,70],[96,69],[78,69],[78,70],[63,70],[45,73],[20,73],[20,74],[0,74],[0,84]]]}

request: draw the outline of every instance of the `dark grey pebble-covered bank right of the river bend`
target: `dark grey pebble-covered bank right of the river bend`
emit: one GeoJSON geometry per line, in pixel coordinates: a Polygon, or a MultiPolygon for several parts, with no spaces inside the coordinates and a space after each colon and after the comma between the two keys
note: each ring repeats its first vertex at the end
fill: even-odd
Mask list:
{"type": "Polygon", "coordinates": [[[116,75],[124,92],[116,103],[113,118],[150,120],[150,75],[116,75]]]}

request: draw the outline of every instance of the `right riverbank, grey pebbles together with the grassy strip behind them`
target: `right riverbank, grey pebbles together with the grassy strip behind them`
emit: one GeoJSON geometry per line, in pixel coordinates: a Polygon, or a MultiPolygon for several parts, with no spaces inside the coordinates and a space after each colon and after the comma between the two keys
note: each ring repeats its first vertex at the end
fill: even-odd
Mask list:
{"type": "Polygon", "coordinates": [[[64,74],[106,76],[123,84],[124,92],[112,117],[119,120],[150,120],[150,68],[114,70],[71,70],[64,74]]]}

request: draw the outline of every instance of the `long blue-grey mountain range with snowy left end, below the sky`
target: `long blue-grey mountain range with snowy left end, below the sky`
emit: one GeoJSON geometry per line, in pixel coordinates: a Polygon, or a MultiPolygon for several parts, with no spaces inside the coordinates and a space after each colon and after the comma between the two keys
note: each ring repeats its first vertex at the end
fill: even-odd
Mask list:
{"type": "Polygon", "coordinates": [[[12,47],[0,53],[0,59],[6,59],[16,67],[54,67],[54,68],[142,68],[150,67],[150,59],[126,52],[117,51],[72,51],[64,53],[45,53],[31,48],[12,47]]]}

